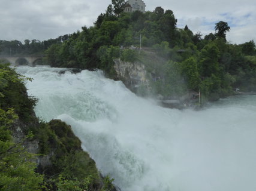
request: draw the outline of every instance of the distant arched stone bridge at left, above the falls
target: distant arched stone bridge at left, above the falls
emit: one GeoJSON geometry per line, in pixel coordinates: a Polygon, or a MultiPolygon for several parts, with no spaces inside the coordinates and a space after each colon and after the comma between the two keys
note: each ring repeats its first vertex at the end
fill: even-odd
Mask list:
{"type": "Polygon", "coordinates": [[[0,56],[0,61],[10,63],[11,66],[31,66],[34,67],[37,63],[41,63],[43,56],[0,56]]]}

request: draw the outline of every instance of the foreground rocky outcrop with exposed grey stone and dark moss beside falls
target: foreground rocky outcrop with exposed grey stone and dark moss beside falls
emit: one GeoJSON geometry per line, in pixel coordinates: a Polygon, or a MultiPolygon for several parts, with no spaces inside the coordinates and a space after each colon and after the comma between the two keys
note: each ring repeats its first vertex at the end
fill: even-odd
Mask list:
{"type": "MultiPolygon", "coordinates": [[[[28,124],[17,119],[11,127],[11,131],[15,143],[22,145],[29,153],[37,154],[37,157],[31,162],[38,165],[38,173],[44,174],[46,177],[65,173],[79,180],[91,177],[90,190],[100,190],[106,186],[104,177],[98,172],[95,161],[82,150],[81,141],[74,135],[71,126],[65,122],[52,120],[49,123],[28,124]],[[26,132],[31,125],[31,130],[37,135],[28,138],[26,132]]],[[[116,190],[111,182],[109,190],[116,190]]]]}

